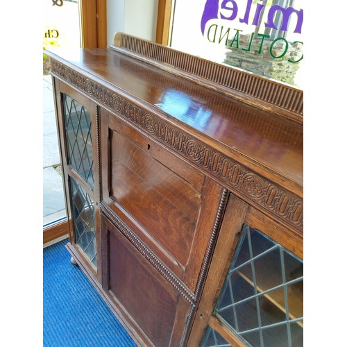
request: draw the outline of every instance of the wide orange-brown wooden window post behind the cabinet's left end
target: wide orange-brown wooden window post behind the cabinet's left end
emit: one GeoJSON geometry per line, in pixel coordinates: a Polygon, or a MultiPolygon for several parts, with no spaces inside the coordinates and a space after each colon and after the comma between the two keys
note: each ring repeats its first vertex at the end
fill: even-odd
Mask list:
{"type": "Polygon", "coordinates": [[[106,0],[80,0],[82,48],[107,46],[106,0]]]}

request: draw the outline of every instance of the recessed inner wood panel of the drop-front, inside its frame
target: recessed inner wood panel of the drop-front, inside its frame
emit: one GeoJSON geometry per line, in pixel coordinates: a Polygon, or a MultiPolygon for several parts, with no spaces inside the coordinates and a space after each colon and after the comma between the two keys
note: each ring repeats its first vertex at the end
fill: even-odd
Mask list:
{"type": "Polygon", "coordinates": [[[185,266],[201,192],[116,132],[111,160],[111,197],[185,266]]]}

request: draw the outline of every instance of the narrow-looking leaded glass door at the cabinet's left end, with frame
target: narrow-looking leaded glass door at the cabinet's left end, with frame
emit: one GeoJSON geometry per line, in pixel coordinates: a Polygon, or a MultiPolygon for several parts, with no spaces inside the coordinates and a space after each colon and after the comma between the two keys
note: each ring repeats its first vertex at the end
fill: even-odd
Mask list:
{"type": "Polygon", "coordinates": [[[96,160],[97,106],[56,81],[70,243],[99,280],[99,174],[96,160]]]}

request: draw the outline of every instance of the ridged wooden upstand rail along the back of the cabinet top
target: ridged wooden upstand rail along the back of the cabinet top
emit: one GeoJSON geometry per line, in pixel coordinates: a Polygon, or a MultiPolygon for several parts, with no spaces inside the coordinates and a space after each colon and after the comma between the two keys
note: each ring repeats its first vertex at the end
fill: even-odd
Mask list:
{"type": "Polygon", "coordinates": [[[137,58],[148,59],[146,62],[173,73],[171,67],[174,67],[185,78],[198,80],[206,87],[293,121],[303,122],[303,91],[295,87],[125,33],[115,33],[114,46],[110,48],[130,51],[137,58]]]}

